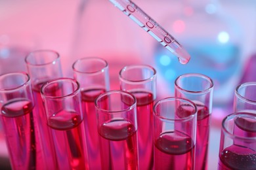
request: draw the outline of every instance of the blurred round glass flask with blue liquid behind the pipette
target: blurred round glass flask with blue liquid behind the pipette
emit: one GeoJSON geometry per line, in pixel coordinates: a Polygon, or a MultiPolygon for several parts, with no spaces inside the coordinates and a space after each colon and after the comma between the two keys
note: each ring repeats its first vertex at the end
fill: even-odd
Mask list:
{"type": "Polygon", "coordinates": [[[171,52],[156,44],[156,69],[168,84],[169,93],[173,93],[177,76],[201,73],[215,83],[214,103],[228,103],[243,66],[242,31],[235,18],[222,11],[217,1],[184,0],[181,8],[169,12],[161,22],[191,56],[188,64],[181,65],[171,52]]]}

